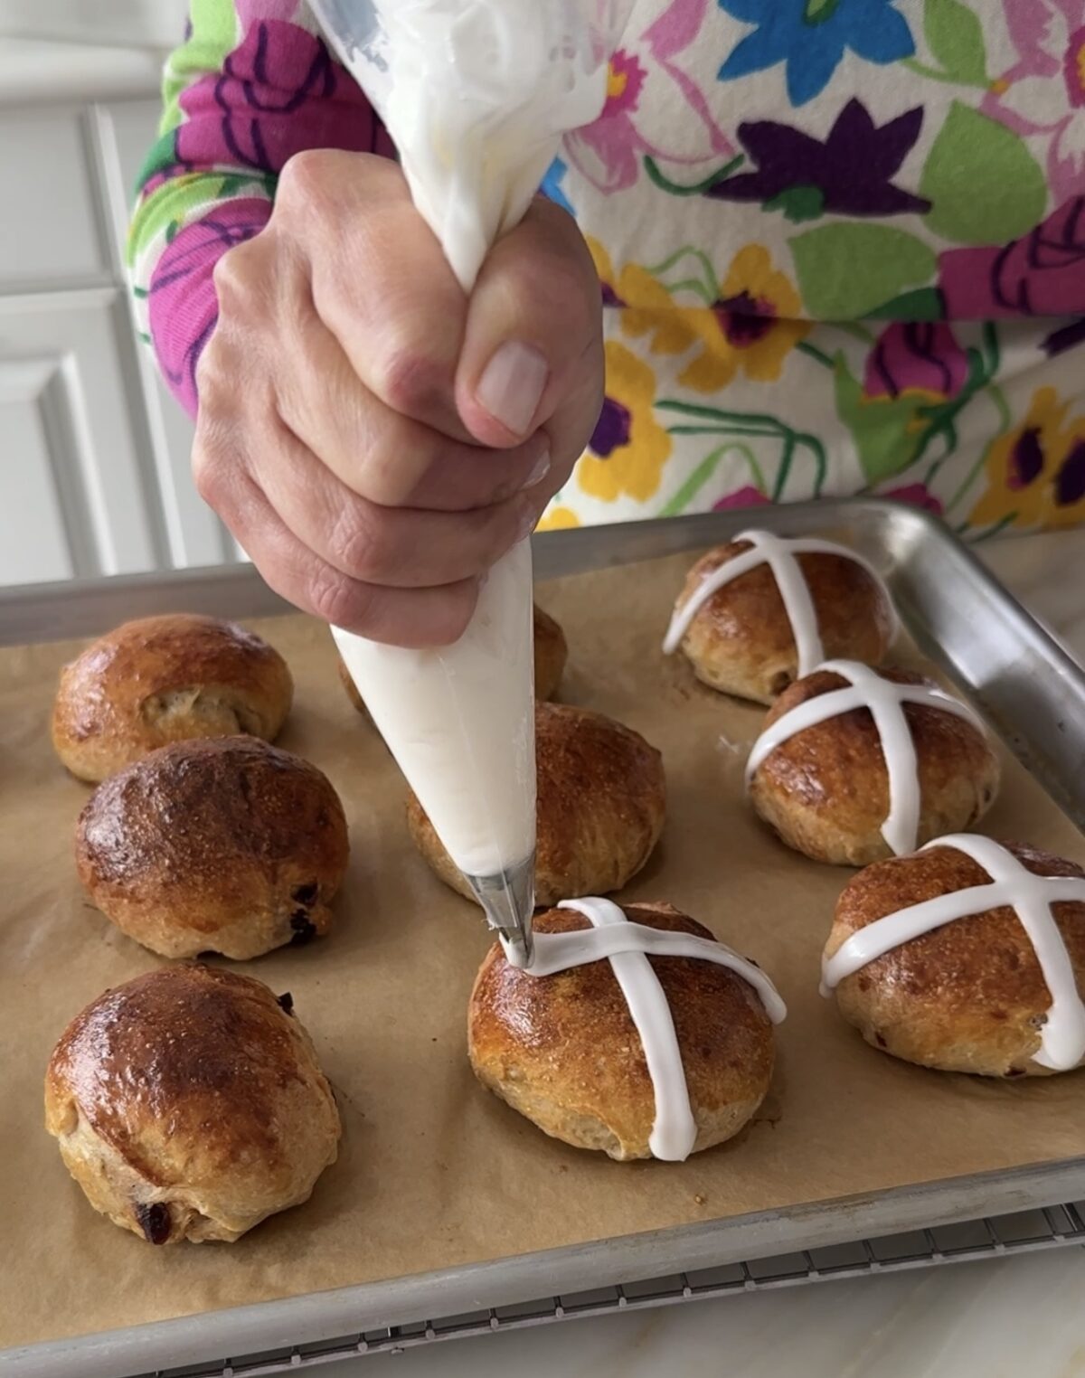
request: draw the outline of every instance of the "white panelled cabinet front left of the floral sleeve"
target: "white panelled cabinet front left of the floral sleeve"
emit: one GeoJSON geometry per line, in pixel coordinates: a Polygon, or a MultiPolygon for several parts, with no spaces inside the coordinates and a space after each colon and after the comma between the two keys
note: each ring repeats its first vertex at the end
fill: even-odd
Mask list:
{"type": "Polygon", "coordinates": [[[124,280],[157,121],[153,98],[0,109],[0,584],[237,558],[124,280]]]}

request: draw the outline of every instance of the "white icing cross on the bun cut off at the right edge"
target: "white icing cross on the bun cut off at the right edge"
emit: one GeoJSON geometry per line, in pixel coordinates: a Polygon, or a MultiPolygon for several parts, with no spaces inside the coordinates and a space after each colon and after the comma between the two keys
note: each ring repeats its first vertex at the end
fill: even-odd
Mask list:
{"type": "Polygon", "coordinates": [[[822,995],[829,996],[845,977],[924,933],[1005,905],[1015,911],[1033,944],[1051,995],[1048,1018],[1040,1034],[1040,1051],[1033,1061],[1056,1072],[1077,1067],[1085,1057],[1085,1005],[1051,907],[1060,901],[1085,904],[1085,881],[1078,876],[1034,875],[1012,852],[973,832],[936,838],[922,850],[931,847],[964,852],[983,867],[990,882],[898,909],[852,933],[833,956],[822,958],[822,995]]]}

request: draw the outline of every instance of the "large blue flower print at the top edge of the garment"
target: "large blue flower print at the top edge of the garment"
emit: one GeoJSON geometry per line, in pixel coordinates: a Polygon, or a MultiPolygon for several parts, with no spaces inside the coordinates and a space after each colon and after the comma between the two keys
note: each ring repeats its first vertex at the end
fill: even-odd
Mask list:
{"type": "Polygon", "coordinates": [[[895,0],[720,0],[753,33],[720,68],[721,81],[787,65],[787,96],[805,105],[829,85],[846,48],[867,62],[898,62],[915,52],[895,0]]]}

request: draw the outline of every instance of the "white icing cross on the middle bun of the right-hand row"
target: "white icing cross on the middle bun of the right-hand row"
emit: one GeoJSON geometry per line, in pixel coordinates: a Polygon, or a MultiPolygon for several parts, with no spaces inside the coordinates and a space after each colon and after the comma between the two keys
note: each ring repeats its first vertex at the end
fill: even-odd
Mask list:
{"type": "Polygon", "coordinates": [[[750,759],[746,762],[746,787],[754,777],[761,762],[790,741],[807,728],[815,728],[829,718],[867,708],[881,737],[881,751],[885,758],[885,773],[889,777],[889,814],[881,825],[881,835],[895,856],[914,852],[920,839],[920,766],[915,759],[915,743],[911,728],[904,717],[904,704],[915,703],[928,708],[942,708],[957,718],[971,722],[976,732],[984,733],[982,719],[966,703],[953,699],[932,685],[900,685],[882,679],[877,670],[860,666],[858,660],[826,660],[818,670],[831,670],[848,681],[844,689],[830,689],[805,703],[789,710],[771,726],[765,728],[754,741],[750,759]]]}

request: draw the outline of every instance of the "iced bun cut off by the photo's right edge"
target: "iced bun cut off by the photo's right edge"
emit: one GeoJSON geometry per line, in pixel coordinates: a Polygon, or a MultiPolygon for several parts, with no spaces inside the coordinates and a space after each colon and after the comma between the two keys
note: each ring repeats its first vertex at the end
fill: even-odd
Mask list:
{"type": "Polygon", "coordinates": [[[892,1057],[1038,1076],[1085,1057],[1085,871],[1037,847],[939,838],[845,886],[822,994],[892,1057]]]}

